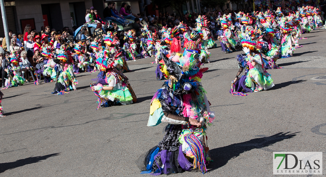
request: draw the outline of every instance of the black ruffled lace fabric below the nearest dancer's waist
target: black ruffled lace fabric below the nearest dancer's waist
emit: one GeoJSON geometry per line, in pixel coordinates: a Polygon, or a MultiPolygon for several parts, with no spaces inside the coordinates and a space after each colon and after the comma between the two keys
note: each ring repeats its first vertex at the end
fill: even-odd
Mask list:
{"type": "Polygon", "coordinates": [[[176,151],[179,150],[179,146],[181,143],[179,142],[179,136],[182,132],[181,125],[171,125],[169,128],[166,129],[166,134],[163,137],[163,140],[158,143],[157,147],[160,148],[160,150],[167,150],[167,151],[176,151]]]}

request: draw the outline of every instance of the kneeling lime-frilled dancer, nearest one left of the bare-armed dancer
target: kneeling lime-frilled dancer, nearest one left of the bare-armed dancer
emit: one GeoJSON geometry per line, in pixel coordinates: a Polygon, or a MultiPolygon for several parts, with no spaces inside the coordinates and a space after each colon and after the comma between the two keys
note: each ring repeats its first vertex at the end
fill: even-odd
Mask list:
{"type": "Polygon", "coordinates": [[[56,60],[56,62],[59,62],[60,64],[57,64],[54,67],[54,70],[57,73],[57,82],[52,94],[56,94],[58,92],[64,94],[70,90],[76,90],[78,81],[73,69],[74,60],[71,56],[71,53],[66,50],[65,45],[60,46],[56,60]]]}

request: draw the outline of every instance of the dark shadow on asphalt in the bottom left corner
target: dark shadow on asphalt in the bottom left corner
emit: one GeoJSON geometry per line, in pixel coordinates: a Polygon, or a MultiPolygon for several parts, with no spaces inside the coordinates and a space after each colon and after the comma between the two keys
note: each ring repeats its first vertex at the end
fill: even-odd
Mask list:
{"type": "Polygon", "coordinates": [[[3,173],[6,170],[11,170],[11,169],[14,169],[17,167],[22,167],[24,165],[41,162],[42,160],[45,160],[50,157],[58,156],[58,155],[60,155],[60,153],[54,153],[54,154],[49,154],[49,155],[45,155],[45,156],[29,157],[29,158],[16,160],[14,162],[0,163],[0,173],[3,173]]]}

